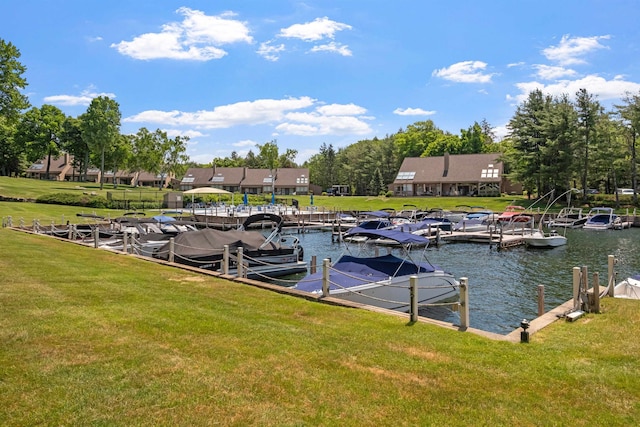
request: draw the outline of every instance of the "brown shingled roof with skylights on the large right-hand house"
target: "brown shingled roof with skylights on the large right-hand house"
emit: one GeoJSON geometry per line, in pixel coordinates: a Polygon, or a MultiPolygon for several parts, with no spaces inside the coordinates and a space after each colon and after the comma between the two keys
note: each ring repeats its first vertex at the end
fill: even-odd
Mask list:
{"type": "Polygon", "coordinates": [[[395,183],[500,182],[503,165],[499,153],[457,154],[439,157],[407,157],[395,183]]]}

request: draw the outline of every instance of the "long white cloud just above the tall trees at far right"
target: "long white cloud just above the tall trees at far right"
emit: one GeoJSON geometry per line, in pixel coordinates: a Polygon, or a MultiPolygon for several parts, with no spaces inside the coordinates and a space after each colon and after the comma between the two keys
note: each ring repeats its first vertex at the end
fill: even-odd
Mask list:
{"type": "Polygon", "coordinates": [[[640,83],[623,80],[617,76],[613,80],[606,80],[597,75],[589,75],[578,80],[560,80],[549,85],[537,81],[516,84],[520,90],[518,95],[507,95],[507,99],[522,103],[527,100],[529,93],[539,89],[542,93],[551,96],[567,94],[573,97],[580,89],[586,89],[590,94],[597,96],[598,100],[620,99],[626,92],[640,91],[640,83]]]}

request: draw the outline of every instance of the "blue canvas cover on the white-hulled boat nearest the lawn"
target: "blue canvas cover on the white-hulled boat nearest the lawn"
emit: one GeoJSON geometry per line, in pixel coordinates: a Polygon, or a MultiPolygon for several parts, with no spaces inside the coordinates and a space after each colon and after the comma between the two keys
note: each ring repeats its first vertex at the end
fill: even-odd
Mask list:
{"type": "MultiPolygon", "coordinates": [[[[428,263],[414,263],[394,255],[359,258],[343,255],[329,271],[329,289],[352,288],[366,283],[387,280],[389,277],[410,276],[436,270],[428,263]]],[[[310,274],[294,286],[306,292],[322,291],[322,271],[310,274]]]]}

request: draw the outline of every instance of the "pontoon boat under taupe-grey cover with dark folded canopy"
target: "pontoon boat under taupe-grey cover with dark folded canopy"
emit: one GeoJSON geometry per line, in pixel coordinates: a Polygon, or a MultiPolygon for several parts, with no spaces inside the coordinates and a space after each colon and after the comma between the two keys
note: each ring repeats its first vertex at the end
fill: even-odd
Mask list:
{"type": "MultiPolygon", "coordinates": [[[[237,274],[239,248],[243,251],[246,277],[275,278],[307,271],[304,250],[296,236],[282,235],[283,219],[279,215],[260,213],[249,216],[236,230],[205,228],[180,233],[173,240],[174,262],[206,270],[222,271],[224,247],[230,251],[229,274],[237,274]],[[252,230],[259,223],[272,222],[271,233],[252,230]]],[[[171,242],[160,247],[155,258],[168,260],[171,242]]]]}

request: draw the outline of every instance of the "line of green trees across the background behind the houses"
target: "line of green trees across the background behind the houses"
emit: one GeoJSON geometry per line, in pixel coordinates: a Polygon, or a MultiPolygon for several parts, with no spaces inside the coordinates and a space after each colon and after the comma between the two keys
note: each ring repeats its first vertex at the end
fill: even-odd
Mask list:
{"type": "MultiPolygon", "coordinates": [[[[31,107],[22,94],[26,68],[19,58],[19,50],[0,39],[0,175],[19,175],[30,163],[65,151],[74,155],[79,180],[83,174],[86,178],[92,165],[100,167],[102,177],[105,168],[179,177],[188,167],[302,166],[309,168],[310,182],[323,189],[340,184],[348,185],[353,194],[379,195],[386,193],[406,157],[494,152],[509,179],[529,193],[637,189],[640,93],[625,94],[620,105],[605,111],[586,89],[573,100],[568,94],[552,97],[534,90],[516,107],[509,134],[499,142],[486,120],[461,129],[459,135],[425,120],[343,148],[323,143],[318,154],[302,165],[295,163],[297,150],[281,153],[275,140],[257,144],[257,152],[250,150],[244,157],[234,151],[229,157],[197,164],[185,155],[188,137],[169,138],[160,129],[146,128],[134,135],[121,134],[119,105],[108,97],[93,99],[78,117],[67,117],[52,105],[31,107]]],[[[49,165],[50,160],[46,173],[49,165]]]]}

